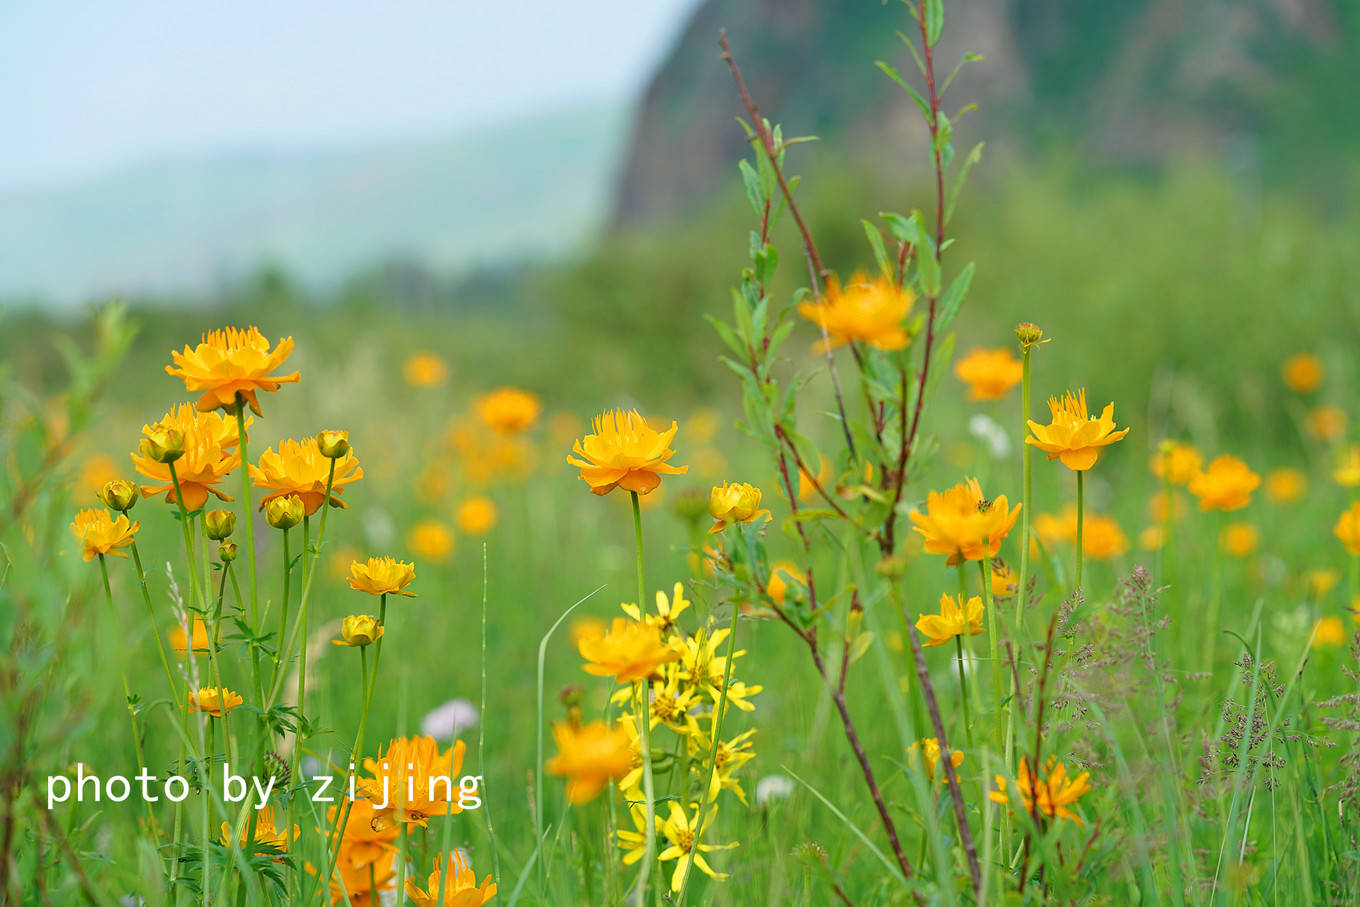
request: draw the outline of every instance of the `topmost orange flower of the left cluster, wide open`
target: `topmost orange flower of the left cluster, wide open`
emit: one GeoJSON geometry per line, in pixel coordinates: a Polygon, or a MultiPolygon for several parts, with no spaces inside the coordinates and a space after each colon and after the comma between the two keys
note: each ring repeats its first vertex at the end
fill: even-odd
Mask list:
{"type": "Polygon", "coordinates": [[[184,352],[170,354],[174,366],[166,366],[166,374],[184,378],[184,386],[190,392],[201,390],[199,411],[237,411],[237,396],[250,405],[254,415],[261,416],[257,390],[273,393],[284,383],[295,383],[299,377],[271,375],[292,352],[292,337],[284,337],[279,345],[269,349],[258,328],[226,328],[203,335],[203,343],[184,352]]]}

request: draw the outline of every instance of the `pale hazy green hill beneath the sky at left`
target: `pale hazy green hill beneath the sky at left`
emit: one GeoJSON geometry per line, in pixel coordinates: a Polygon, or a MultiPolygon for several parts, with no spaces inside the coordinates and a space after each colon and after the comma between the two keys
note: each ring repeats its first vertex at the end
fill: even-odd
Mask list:
{"type": "Polygon", "coordinates": [[[199,295],[261,267],[324,292],[388,261],[453,272],[560,254],[605,215],[624,116],[166,160],[0,196],[0,302],[199,295]]]}

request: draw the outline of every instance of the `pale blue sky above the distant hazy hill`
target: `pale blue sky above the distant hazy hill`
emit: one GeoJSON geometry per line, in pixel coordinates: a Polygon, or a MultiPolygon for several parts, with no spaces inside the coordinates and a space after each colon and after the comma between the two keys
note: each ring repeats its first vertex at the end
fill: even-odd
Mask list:
{"type": "Polygon", "coordinates": [[[3,0],[0,190],[635,97],[698,0],[3,0]]]}

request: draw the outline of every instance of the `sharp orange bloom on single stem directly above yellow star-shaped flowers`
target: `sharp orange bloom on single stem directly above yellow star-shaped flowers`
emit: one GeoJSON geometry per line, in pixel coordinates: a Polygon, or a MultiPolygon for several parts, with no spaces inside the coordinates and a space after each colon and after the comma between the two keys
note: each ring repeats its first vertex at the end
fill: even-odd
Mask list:
{"type": "Polygon", "coordinates": [[[666,461],[675,456],[670,439],[676,423],[666,431],[647,424],[638,411],[615,409],[594,419],[594,434],[589,434],[571,447],[575,457],[567,462],[581,468],[581,480],[590,491],[607,495],[615,488],[645,495],[661,484],[661,476],[688,472],[690,466],[672,466],[666,461]]]}

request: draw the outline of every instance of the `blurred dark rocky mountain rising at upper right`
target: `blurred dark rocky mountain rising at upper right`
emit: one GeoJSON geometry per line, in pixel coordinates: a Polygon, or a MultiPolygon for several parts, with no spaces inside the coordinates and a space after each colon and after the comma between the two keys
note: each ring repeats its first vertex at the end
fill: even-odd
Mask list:
{"type": "MultiPolygon", "coordinates": [[[[937,71],[985,56],[951,87],[945,110],[979,105],[956,147],[1057,147],[1100,163],[1209,155],[1277,160],[1311,178],[1344,169],[1360,136],[1356,0],[945,0],[937,71]]],[[[762,114],[785,135],[817,135],[836,165],[900,173],[926,162],[925,126],[873,63],[921,84],[896,31],[914,22],[876,0],[704,0],[636,113],[615,200],[616,224],[684,213],[734,174],[745,110],[718,33],[762,114]]],[[[919,45],[919,35],[915,35],[919,45]]],[[[798,152],[796,169],[827,152],[798,152]]]]}

